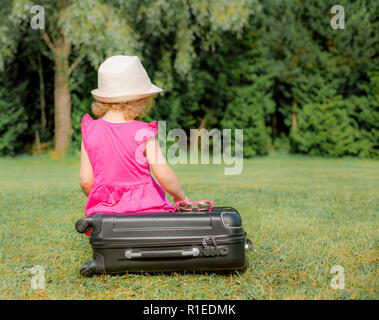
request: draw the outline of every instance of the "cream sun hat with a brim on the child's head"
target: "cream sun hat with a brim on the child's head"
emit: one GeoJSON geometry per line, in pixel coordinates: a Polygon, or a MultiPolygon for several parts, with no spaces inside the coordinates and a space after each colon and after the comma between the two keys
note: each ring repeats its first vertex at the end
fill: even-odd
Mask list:
{"type": "Polygon", "coordinates": [[[126,102],[152,96],[163,90],[152,84],[137,56],[113,56],[99,67],[98,88],[93,97],[100,102],[126,102]]]}

